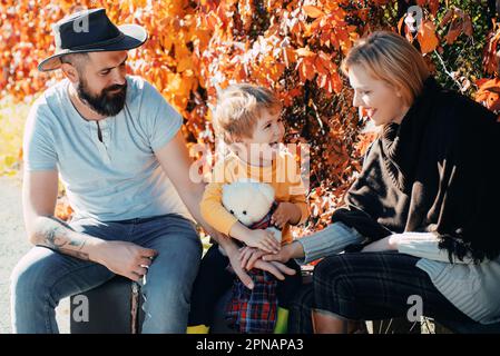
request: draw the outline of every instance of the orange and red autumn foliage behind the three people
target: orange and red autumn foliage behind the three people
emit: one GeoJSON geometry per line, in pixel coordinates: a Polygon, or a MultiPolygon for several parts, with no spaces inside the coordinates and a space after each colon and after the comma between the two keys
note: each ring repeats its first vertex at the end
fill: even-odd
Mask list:
{"type": "MultiPolygon", "coordinates": [[[[357,38],[376,29],[399,31],[422,51],[437,75],[448,76],[467,95],[476,93],[479,76],[469,77],[441,62],[449,47],[474,36],[472,18],[453,2],[460,4],[444,0],[84,0],[78,4],[0,0],[0,90],[26,100],[58,80],[60,73],[37,71],[38,61],[53,52],[50,24],[78,8],[104,7],[116,23],[147,29],[149,40],[131,51],[129,70],[150,81],[184,116],[189,146],[213,149],[209,108],[219,88],[245,81],[275,90],[285,107],[286,140],[311,145],[312,230],[324,226],[339,206],[374,138],[361,134],[364,119],[352,108],[351,90],[339,69],[357,38]],[[421,7],[421,18],[406,16],[411,4],[421,7]]],[[[494,24],[489,34],[484,29],[480,32],[477,41],[483,42],[484,56],[473,61],[481,67],[483,60],[479,71],[492,76],[500,31],[494,24]]],[[[498,88],[497,82],[484,90],[496,90],[491,88],[498,88]]]]}

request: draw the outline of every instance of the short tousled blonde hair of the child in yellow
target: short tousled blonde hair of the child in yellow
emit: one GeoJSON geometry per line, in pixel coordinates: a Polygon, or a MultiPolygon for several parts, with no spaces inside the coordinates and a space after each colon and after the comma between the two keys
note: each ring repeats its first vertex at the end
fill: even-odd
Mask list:
{"type": "Polygon", "coordinates": [[[226,144],[252,138],[263,110],[281,111],[282,103],[269,89],[241,83],[224,89],[214,109],[213,123],[226,144]]]}

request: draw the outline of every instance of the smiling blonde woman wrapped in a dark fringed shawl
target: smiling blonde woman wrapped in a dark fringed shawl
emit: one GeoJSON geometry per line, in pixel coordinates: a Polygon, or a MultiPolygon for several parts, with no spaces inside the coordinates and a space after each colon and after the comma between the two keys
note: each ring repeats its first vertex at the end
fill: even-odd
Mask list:
{"type": "Polygon", "coordinates": [[[429,317],[498,323],[500,123],[442,89],[399,34],[360,40],[343,70],[381,135],[333,224],[263,258],[326,257],[290,329],[352,333],[356,322],[406,317],[419,299],[429,317]]]}

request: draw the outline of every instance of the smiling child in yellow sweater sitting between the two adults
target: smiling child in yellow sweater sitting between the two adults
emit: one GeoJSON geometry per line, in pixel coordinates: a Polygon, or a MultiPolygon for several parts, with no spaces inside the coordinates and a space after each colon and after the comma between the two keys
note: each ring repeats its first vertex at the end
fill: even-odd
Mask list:
{"type": "MultiPolygon", "coordinates": [[[[272,233],[248,229],[224,208],[224,184],[251,178],[269,184],[274,188],[278,205],[272,216],[272,222],[282,229],[282,245],[292,243],[290,225],[302,224],[308,217],[305,189],[297,164],[290,152],[281,149],[284,136],[281,110],[282,105],[271,90],[251,85],[235,85],[224,90],[214,110],[214,127],[231,152],[215,165],[212,181],[205,188],[200,210],[204,219],[215,229],[247,246],[242,250],[242,265],[254,254],[261,257],[276,253],[281,246],[272,233]]],[[[235,278],[237,279],[228,267],[228,258],[213,245],[202,260],[193,287],[188,333],[208,332],[217,300],[229,289],[235,278]]],[[[291,260],[287,267],[295,269],[296,274],[277,281],[275,290],[278,307],[277,317],[273,323],[281,332],[287,325],[288,299],[301,285],[300,267],[294,260],[291,260]]],[[[267,274],[265,271],[258,270],[256,274],[261,276],[251,275],[269,278],[268,275],[262,275],[267,274]]],[[[246,293],[252,291],[246,289],[246,293]]],[[[252,318],[254,317],[253,315],[252,318]]],[[[252,319],[252,323],[254,322],[252,319]]],[[[252,327],[246,332],[252,332],[252,327]]]]}

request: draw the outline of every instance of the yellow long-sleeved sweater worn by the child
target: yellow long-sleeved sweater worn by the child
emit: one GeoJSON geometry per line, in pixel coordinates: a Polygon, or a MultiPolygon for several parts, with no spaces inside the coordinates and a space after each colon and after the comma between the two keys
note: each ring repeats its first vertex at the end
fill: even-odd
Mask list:
{"type": "MultiPolygon", "coordinates": [[[[205,187],[199,205],[203,218],[216,230],[229,236],[231,228],[237,219],[222,204],[223,185],[241,178],[251,178],[271,185],[277,202],[295,204],[302,212],[298,224],[304,222],[310,212],[298,168],[298,164],[290,152],[280,152],[268,167],[251,166],[234,154],[226,156],[224,161],[215,165],[210,182],[205,187]]],[[[290,226],[286,224],[282,229],[282,245],[292,240],[290,226]]]]}

